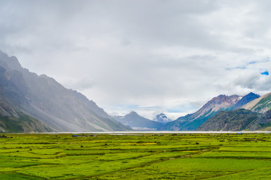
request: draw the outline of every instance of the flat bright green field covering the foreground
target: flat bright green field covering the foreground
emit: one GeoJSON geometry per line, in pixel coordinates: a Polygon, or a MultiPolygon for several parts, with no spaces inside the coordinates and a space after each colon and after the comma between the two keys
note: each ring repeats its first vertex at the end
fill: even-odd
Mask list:
{"type": "Polygon", "coordinates": [[[5,134],[0,179],[270,179],[270,137],[5,134]]]}

